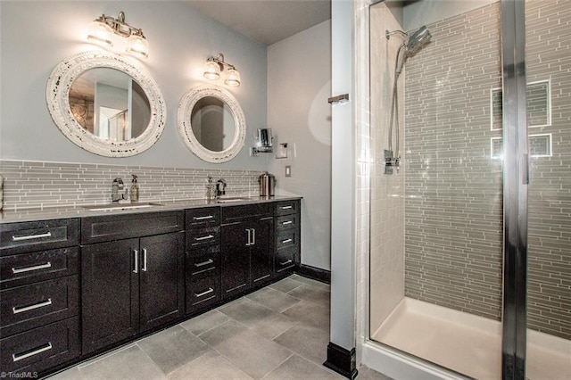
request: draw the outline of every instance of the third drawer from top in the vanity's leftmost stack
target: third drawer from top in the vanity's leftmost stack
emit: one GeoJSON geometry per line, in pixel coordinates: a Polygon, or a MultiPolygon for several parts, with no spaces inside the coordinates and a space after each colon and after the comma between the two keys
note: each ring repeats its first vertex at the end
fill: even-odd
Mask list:
{"type": "Polygon", "coordinates": [[[2,336],[79,314],[79,276],[56,278],[0,292],[2,336]]]}

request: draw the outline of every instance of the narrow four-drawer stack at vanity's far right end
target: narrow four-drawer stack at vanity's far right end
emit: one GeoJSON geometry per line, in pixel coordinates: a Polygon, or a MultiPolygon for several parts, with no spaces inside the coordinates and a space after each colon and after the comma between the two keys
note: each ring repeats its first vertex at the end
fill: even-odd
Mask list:
{"type": "Polygon", "coordinates": [[[277,273],[294,270],[300,263],[301,202],[276,202],[276,256],[277,273]]]}

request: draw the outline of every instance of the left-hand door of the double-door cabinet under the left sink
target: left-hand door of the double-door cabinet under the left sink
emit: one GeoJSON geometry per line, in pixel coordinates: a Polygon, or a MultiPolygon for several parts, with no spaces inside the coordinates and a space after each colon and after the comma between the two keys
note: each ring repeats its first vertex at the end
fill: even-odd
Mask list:
{"type": "Polygon", "coordinates": [[[139,240],[81,247],[82,353],[139,331],[139,240]]]}

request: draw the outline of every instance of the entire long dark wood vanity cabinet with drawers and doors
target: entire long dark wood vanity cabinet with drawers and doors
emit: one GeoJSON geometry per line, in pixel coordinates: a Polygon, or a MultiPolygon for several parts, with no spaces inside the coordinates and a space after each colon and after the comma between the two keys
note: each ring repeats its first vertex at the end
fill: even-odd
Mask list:
{"type": "Polygon", "coordinates": [[[0,360],[40,376],[294,271],[299,200],[0,223],[0,360]]]}

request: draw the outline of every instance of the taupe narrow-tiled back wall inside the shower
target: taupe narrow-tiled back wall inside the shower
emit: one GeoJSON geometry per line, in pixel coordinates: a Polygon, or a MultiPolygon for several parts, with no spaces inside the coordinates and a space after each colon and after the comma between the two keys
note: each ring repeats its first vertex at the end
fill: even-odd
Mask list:
{"type": "MultiPolygon", "coordinates": [[[[570,339],[571,8],[525,8],[528,85],[549,80],[551,108],[528,131],[552,141],[550,155],[531,159],[528,326],[570,339]]],[[[490,142],[501,129],[490,96],[501,88],[500,14],[496,3],[428,25],[431,45],[407,62],[405,82],[406,295],[498,320],[502,168],[490,142]]]]}

